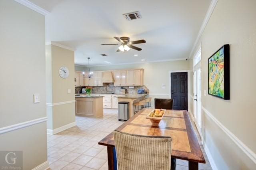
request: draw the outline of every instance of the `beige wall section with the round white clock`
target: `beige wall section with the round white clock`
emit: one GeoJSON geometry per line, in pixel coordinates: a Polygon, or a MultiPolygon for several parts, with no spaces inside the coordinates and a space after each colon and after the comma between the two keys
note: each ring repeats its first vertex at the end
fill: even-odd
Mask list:
{"type": "MultiPolygon", "coordinates": [[[[55,45],[46,45],[46,87],[47,103],[56,104],[66,101],[74,101],[74,51],[55,45]],[[62,79],[59,69],[66,66],[69,76],[62,79]],[[71,93],[68,93],[70,89],[71,93]]],[[[47,128],[56,128],[75,122],[75,103],[47,106],[47,128]]]]}

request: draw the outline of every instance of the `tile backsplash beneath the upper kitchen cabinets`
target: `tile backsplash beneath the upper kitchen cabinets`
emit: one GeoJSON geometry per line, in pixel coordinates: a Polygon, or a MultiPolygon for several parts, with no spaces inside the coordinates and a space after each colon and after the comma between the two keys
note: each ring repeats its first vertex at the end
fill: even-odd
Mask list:
{"type": "MultiPolygon", "coordinates": [[[[145,89],[145,92],[149,93],[149,90],[146,86],[134,86],[134,89],[129,89],[129,86],[114,86],[114,83],[103,83],[103,86],[92,87],[92,93],[120,93],[121,87],[126,89],[126,93],[129,94],[137,94],[138,89],[145,89]]],[[[75,87],[75,89],[78,90],[79,93],[82,93],[82,88],[85,87],[75,87]]],[[[75,93],[77,93],[76,90],[75,93]]]]}

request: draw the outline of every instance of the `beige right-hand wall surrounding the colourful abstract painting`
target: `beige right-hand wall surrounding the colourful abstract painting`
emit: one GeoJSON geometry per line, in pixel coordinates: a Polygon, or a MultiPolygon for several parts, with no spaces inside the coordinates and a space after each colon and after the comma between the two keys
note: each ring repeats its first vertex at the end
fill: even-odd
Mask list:
{"type": "MultiPolygon", "coordinates": [[[[256,153],[256,1],[218,0],[202,34],[202,106],[256,153]],[[208,57],[230,44],[230,100],[208,95],[208,57]]],[[[248,156],[203,113],[203,138],[219,169],[253,169],[248,156]]]]}

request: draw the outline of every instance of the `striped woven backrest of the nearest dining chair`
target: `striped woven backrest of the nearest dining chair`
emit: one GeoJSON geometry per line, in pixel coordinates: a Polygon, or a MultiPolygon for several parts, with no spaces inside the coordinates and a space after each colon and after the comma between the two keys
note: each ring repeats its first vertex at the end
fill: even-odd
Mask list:
{"type": "Polygon", "coordinates": [[[118,170],[170,170],[171,137],[113,133],[118,170]]]}

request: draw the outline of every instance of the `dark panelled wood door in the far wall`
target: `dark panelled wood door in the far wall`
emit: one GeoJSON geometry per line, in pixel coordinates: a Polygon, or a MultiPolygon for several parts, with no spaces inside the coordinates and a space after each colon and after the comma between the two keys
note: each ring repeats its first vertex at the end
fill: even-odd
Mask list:
{"type": "Polygon", "coordinates": [[[171,73],[171,97],[174,110],[188,110],[188,73],[171,73]]]}

